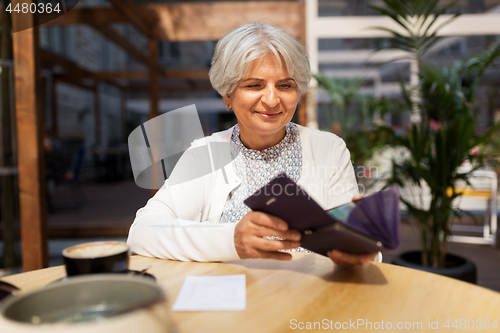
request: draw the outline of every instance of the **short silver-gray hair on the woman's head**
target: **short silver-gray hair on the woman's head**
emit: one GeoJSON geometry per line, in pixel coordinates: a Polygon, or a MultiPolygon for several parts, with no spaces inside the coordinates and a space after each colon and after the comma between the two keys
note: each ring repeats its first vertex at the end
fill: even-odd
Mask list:
{"type": "Polygon", "coordinates": [[[272,24],[248,23],[222,37],[215,47],[209,77],[217,92],[226,97],[236,89],[250,63],[272,52],[280,66],[285,60],[299,96],[307,91],[311,67],[307,52],[298,39],[272,24]]]}

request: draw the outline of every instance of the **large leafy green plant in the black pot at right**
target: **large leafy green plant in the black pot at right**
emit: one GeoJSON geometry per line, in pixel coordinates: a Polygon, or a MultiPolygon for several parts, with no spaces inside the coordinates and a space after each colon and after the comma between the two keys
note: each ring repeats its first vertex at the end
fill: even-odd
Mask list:
{"type": "MultiPolygon", "coordinates": [[[[453,3],[436,12],[438,0],[383,2],[385,7],[372,8],[391,17],[406,30],[405,34],[400,34],[384,28],[394,37],[391,47],[407,51],[419,68],[419,84],[410,90],[402,85],[406,109],[417,113],[418,117],[413,117],[403,131],[394,131],[389,126],[378,129],[389,133],[392,146],[404,147],[406,152],[392,161],[387,184],[410,187],[420,194],[401,197],[417,221],[422,247],[420,253],[407,255],[406,259],[418,261],[416,264],[424,270],[433,268],[437,273],[457,277],[453,270],[448,273],[443,270],[447,261],[453,259],[447,253],[447,236],[451,231],[452,216],[459,212],[452,202],[461,195],[455,187],[457,181],[468,183],[472,172],[485,164],[487,156],[482,151],[475,151],[476,147],[484,144],[500,128],[497,124],[480,133],[473,106],[482,74],[500,55],[500,43],[478,56],[437,68],[426,64],[423,59],[439,40],[436,36],[439,26],[435,26],[437,18],[453,3]],[[464,163],[470,163],[472,167],[462,172],[459,168],[464,163]],[[428,205],[421,201],[424,188],[430,195],[428,205]]],[[[462,278],[475,282],[475,271],[465,273],[462,278]]]]}

